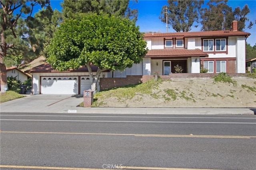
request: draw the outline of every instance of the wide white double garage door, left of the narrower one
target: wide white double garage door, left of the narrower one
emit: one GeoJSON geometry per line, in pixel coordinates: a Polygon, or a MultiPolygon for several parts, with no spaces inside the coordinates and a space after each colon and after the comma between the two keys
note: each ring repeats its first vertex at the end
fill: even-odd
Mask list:
{"type": "Polygon", "coordinates": [[[41,77],[41,94],[78,94],[78,77],[41,77]]]}

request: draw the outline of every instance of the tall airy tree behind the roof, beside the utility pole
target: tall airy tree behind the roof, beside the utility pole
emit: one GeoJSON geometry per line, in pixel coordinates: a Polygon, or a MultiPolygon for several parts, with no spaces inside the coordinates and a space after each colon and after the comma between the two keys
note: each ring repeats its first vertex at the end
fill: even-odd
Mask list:
{"type": "MultiPolygon", "coordinates": [[[[203,0],[168,0],[167,21],[177,32],[188,32],[194,22],[198,23],[199,10],[204,3],[203,0]]],[[[166,23],[166,10],[162,7],[161,21],[166,23]]],[[[197,27],[196,25],[195,27],[197,27]]]]}

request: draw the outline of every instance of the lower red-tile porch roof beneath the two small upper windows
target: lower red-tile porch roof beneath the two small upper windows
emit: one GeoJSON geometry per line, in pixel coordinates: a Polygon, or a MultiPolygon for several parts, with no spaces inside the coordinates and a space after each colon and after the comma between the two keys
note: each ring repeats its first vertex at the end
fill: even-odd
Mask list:
{"type": "Polygon", "coordinates": [[[153,49],[145,57],[208,57],[208,54],[200,49],[153,49]]]}

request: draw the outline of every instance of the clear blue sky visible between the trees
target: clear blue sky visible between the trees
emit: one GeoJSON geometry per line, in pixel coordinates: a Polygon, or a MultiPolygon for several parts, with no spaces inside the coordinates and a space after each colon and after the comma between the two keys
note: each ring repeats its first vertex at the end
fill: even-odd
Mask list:
{"type": "MultiPolygon", "coordinates": [[[[50,3],[53,9],[57,9],[61,11],[60,2],[62,0],[51,0],[50,3]]],[[[203,7],[206,6],[208,1],[204,1],[203,7]]],[[[166,23],[160,21],[159,16],[162,10],[162,7],[167,4],[167,0],[138,0],[138,3],[130,1],[130,8],[131,9],[138,9],[138,20],[136,22],[137,25],[140,27],[141,32],[148,32],[148,31],[156,31],[156,32],[166,32],[166,23]]],[[[254,21],[256,19],[256,0],[229,0],[228,5],[234,8],[244,7],[244,5],[248,5],[250,9],[250,13],[247,17],[254,21]]],[[[246,27],[249,25],[249,22],[246,22],[246,27]]],[[[200,31],[201,25],[198,24],[198,27],[192,27],[191,31],[200,31]]],[[[256,24],[253,25],[251,29],[245,28],[245,32],[251,33],[251,35],[247,38],[247,43],[251,46],[256,44],[256,24]]],[[[172,29],[172,27],[168,28],[168,32],[176,32],[172,29]]]]}

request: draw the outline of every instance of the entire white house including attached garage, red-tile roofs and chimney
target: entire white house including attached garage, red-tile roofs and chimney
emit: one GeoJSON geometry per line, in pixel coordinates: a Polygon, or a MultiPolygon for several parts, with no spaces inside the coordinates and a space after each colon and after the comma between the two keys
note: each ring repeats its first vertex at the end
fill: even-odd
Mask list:
{"type": "MultiPolygon", "coordinates": [[[[201,64],[209,73],[245,73],[249,35],[237,30],[237,21],[232,22],[230,31],[146,33],[144,39],[149,51],[142,62],[122,71],[102,72],[97,89],[138,83],[144,75],[156,72],[170,75],[175,73],[177,64],[184,73],[200,73],[201,64]]],[[[93,67],[94,75],[96,70],[93,67]]],[[[86,67],[60,72],[44,63],[26,72],[32,74],[33,94],[83,94],[91,88],[86,67]]]]}

